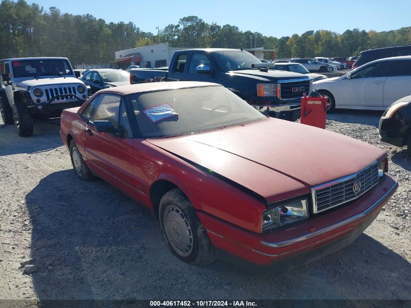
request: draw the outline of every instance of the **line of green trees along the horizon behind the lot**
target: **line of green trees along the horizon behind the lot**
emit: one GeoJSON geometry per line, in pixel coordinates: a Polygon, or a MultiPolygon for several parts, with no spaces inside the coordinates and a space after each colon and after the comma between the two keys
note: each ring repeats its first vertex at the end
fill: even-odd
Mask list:
{"type": "Polygon", "coordinates": [[[275,50],[276,58],[352,56],[377,46],[411,44],[411,27],[382,32],[356,28],[342,34],[310,30],[301,36],[277,38],[188,16],[153,34],[133,22],[107,23],[90,14],[62,13],[56,7],[45,10],[25,0],[2,0],[0,4],[0,58],[65,56],[73,64],[109,63],[115,51],[159,42],[193,48],[254,48],[256,44],[275,50]]]}

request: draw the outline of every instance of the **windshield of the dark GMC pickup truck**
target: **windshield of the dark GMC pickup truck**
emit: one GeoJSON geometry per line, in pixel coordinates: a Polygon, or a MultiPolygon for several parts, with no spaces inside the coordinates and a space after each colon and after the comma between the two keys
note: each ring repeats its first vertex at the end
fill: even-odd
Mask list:
{"type": "Polygon", "coordinates": [[[228,51],[214,53],[218,67],[223,72],[249,70],[251,64],[261,63],[259,59],[245,51],[228,51]]]}

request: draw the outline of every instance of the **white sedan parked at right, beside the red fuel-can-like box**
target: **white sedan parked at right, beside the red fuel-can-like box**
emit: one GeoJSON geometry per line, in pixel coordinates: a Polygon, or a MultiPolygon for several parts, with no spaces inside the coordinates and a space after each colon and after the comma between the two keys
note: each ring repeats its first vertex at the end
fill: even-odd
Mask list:
{"type": "Polygon", "coordinates": [[[327,110],[385,110],[411,94],[411,56],[378,59],[340,77],[323,79],[313,89],[327,97],[327,110]]]}

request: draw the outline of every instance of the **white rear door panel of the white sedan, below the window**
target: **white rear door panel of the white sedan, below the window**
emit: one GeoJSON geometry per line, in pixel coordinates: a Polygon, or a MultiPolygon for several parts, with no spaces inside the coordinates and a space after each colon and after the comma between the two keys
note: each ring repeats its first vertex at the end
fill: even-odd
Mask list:
{"type": "Polygon", "coordinates": [[[388,76],[383,90],[383,106],[389,107],[401,97],[411,94],[410,76],[388,76]]]}

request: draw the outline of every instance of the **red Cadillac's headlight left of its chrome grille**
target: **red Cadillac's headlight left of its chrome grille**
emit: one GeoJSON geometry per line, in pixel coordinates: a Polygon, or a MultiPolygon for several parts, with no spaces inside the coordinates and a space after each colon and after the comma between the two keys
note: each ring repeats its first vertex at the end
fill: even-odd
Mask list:
{"type": "Polygon", "coordinates": [[[308,199],[281,204],[263,212],[263,231],[308,218],[308,199]]]}

